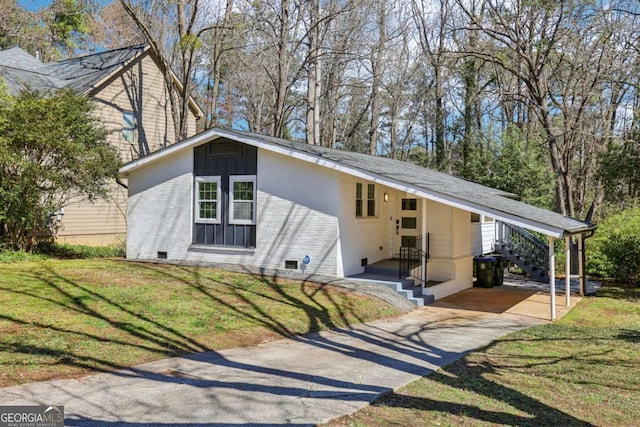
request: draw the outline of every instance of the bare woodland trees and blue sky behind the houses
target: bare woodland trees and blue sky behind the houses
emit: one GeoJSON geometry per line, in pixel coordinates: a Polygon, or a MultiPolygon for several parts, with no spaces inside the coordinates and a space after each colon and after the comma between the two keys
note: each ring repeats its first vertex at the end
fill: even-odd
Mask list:
{"type": "MultiPolygon", "coordinates": [[[[0,0],[0,48],[148,43],[234,127],[446,171],[580,219],[637,203],[636,0],[0,0]]],[[[168,74],[167,74],[168,75],[168,74]]]]}

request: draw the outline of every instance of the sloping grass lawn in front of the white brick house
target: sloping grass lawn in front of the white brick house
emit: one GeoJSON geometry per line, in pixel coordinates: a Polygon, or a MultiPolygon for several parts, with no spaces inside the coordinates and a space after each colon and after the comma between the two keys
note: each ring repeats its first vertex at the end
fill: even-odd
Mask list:
{"type": "Polygon", "coordinates": [[[313,283],[123,260],[29,259],[0,264],[0,387],[399,314],[378,299],[313,283]]]}

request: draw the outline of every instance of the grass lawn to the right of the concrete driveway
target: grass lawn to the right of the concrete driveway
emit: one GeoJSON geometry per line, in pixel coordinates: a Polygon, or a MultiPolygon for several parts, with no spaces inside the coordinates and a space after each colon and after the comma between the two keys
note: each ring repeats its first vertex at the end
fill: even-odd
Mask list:
{"type": "Polygon", "coordinates": [[[639,350],[640,289],[608,285],[329,425],[637,426],[639,350]]]}

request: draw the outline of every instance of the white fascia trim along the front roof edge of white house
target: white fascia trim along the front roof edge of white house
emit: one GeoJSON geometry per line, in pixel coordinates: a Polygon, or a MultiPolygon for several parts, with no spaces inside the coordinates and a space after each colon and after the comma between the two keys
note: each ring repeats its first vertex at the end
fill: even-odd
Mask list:
{"type": "Polygon", "coordinates": [[[385,177],[376,173],[366,171],[365,169],[347,166],[331,159],[325,159],[290,147],[274,144],[267,140],[261,139],[259,136],[245,135],[238,132],[226,131],[218,128],[209,129],[191,138],[185,139],[177,144],[156,151],[148,156],[131,161],[120,168],[120,174],[123,177],[126,177],[131,172],[165,159],[180,151],[214,141],[218,138],[227,138],[244,144],[252,145],[260,149],[278,153],[304,162],[312,163],[357,178],[365,179],[379,185],[393,188],[398,191],[406,192],[408,194],[415,195],[418,198],[424,198],[465,211],[490,216],[496,220],[514,224],[523,228],[527,228],[529,230],[537,231],[553,238],[562,238],[569,235],[582,234],[595,229],[595,226],[584,224],[583,228],[566,230],[563,228],[552,226],[550,224],[545,224],[541,221],[536,221],[531,218],[523,218],[509,212],[504,212],[489,206],[485,206],[478,202],[469,202],[467,200],[462,200],[449,194],[426,190],[424,188],[418,187],[416,185],[411,185],[394,178],[385,177]]]}

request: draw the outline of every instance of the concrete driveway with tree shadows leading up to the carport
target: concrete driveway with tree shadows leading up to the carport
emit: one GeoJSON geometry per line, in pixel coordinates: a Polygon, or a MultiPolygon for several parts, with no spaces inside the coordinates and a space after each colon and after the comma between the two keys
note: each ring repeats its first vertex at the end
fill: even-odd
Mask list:
{"type": "Polygon", "coordinates": [[[70,426],[315,425],[540,323],[429,306],[353,329],[3,388],[0,405],[64,405],[70,426]]]}

